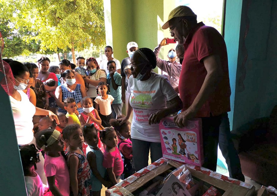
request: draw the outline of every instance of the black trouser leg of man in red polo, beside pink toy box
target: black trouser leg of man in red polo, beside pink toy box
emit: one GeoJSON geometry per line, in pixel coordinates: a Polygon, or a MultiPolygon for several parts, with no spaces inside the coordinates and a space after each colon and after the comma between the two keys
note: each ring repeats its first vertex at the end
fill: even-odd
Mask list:
{"type": "Polygon", "coordinates": [[[216,171],[218,156],[219,125],[221,123],[221,115],[205,117],[201,119],[204,150],[203,167],[206,167],[212,171],[216,171]]]}

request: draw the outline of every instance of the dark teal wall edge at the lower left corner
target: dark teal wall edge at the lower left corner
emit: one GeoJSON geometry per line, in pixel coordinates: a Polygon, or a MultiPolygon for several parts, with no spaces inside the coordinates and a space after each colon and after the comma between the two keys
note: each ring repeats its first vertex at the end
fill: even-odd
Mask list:
{"type": "MultiPolygon", "coordinates": [[[[2,80],[3,74],[0,74],[2,80]]],[[[0,195],[26,196],[9,96],[0,86],[0,195]]]]}

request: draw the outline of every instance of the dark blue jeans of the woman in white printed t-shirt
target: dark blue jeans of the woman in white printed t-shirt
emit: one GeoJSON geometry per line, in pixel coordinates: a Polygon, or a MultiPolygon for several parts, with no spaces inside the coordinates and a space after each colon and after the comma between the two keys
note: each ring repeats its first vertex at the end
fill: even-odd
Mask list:
{"type": "Polygon", "coordinates": [[[148,166],[149,149],[151,163],[163,157],[162,145],[160,142],[147,142],[132,138],[132,147],[136,171],[148,166]]]}

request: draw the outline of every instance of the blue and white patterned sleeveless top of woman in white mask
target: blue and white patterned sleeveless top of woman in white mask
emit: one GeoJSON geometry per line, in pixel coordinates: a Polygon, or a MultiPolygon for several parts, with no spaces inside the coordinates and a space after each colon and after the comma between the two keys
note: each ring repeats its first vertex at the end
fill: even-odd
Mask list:
{"type": "MultiPolygon", "coordinates": [[[[74,98],[76,104],[81,101],[81,99],[82,99],[81,84],[77,84],[75,90],[72,91],[72,92],[69,92],[63,84],[61,85],[61,88],[62,88],[62,101],[65,100],[65,98],[68,98],[68,97],[74,98]]],[[[79,113],[83,112],[82,107],[78,108],[77,110],[78,110],[79,113]]],[[[63,108],[60,108],[60,107],[59,107],[58,112],[62,112],[64,114],[67,113],[66,110],[64,110],[63,108]]]]}

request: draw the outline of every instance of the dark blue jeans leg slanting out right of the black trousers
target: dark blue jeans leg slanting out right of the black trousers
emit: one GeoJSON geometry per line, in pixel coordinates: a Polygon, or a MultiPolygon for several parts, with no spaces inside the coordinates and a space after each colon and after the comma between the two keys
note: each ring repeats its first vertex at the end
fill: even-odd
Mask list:
{"type": "Polygon", "coordinates": [[[239,161],[238,152],[235,149],[231,139],[230,122],[228,113],[222,114],[221,124],[219,127],[219,149],[226,160],[229,170],[229,176],[234,179],[245,181],[239,161]]]}

